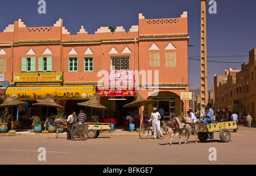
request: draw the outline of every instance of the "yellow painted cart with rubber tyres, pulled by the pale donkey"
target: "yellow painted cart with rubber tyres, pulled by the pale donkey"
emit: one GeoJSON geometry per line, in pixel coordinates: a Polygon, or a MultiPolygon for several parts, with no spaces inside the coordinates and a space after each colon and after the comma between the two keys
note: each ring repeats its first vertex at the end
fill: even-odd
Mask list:
{"type": "MultiPolygon", "coordinates": [[[[237,130],[236,121],[228,122],[211,122],[211,123],[193,123],[195,130],[198,132],[198,138],[200,141],[207,141],[208,136],[212,132],[220,132],[220,140],[224,143],[228,143],[231,134],[229,130],[237,130]]],[[[191,130],[191,129],[189,129],[191,130]]]]}

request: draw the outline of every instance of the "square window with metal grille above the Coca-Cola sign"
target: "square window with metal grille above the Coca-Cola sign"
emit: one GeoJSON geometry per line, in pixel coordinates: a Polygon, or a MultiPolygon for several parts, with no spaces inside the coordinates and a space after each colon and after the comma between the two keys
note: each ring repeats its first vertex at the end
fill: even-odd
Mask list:
{"type": "Polygon", "coordinates": [[[130,56],[112,56],[111,70],[130,70],[130,56]]]}

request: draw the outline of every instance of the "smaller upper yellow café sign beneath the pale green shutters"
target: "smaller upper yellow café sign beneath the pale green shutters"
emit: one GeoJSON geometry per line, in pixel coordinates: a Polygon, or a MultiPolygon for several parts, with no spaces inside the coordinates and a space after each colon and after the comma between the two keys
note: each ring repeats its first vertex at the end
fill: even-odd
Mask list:
{"type": "Polygon", "coordinates": [[[14,82],[56,82],[63,80],[62,72],[16,72],[14,82]]]}

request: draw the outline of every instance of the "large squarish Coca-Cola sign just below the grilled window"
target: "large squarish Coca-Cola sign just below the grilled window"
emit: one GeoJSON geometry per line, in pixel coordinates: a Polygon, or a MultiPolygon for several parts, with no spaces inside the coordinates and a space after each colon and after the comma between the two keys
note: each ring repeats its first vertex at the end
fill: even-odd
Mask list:
{"type": "Polygon", "coordinates": [[[109,85],[127,85],[127,87],[133,87],[135,79],[134,70],[115,70],[109,71],[108,73],[109,85]]]}

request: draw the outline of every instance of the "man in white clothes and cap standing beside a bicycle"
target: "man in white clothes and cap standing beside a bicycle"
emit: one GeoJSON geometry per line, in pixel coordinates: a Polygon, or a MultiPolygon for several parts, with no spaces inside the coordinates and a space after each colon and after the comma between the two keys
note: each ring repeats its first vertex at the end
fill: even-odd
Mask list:
{"type": "Polygon", "coordinates": [[[152,121],[154,139],[158,139],[158,136],[160,136],[160,139],[163,139],[162,132],[161,132],[161,129],[160,129],[161,116],[160,116],[160,114],[157,110],[158,109],[153,108],[153,112],[151,113],[150,120],[148,122],[152,121]]]}

